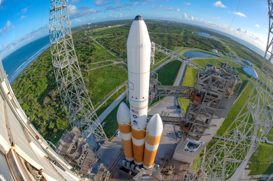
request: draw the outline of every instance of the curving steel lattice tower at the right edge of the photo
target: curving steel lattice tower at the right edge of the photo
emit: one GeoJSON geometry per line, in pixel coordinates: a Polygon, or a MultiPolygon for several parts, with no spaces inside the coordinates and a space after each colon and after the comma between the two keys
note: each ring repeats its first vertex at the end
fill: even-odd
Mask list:
{"type": "MultiPolygon", "coordinates": [[[[227,131],[186,171],[184,179],[237,180],[273,122],[273,2],[268,1],[269,32],[259,78],[227,131]],[[260,127],[259,127],[260,126],[260,127]],[[258,131],[261,134],[258,136],[258,131]],[[238,174],[236,171],[238,170],[238,174]],[[235,174],[234,174],[235,173],[235,174]]],[[[251,80],[250,80],[251,81],[251,80]]]]}

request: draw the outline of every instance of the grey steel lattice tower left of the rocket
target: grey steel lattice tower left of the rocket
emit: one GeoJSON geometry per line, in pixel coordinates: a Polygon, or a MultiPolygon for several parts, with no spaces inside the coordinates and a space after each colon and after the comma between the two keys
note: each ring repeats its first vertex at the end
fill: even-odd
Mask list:
{"type": "Polygon", "coordinates": [[[49,33],[52,65],[68,119],[83,133],[94,151],[107,140],[84,84],[75,53],[66,0],[51,0],[49,33]]]}

